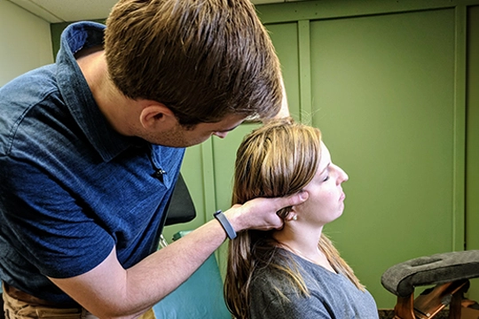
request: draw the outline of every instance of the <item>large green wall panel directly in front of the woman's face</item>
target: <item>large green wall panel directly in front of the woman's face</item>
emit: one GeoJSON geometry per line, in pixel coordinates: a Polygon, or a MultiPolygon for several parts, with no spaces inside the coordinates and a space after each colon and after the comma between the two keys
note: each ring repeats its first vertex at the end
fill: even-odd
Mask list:
{"type": "Polygon", "coordinates": [[[312,21],[313,124],[349,173],[325,232],[379,307],[390,266],[452,251],[454,12],[312,21]]]}

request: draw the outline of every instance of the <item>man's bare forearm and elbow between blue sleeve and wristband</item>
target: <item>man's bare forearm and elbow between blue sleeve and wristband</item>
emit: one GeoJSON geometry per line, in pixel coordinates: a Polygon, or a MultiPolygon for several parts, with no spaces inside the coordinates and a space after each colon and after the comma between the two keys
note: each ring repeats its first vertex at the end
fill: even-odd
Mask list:
{"type": "Polygon", "coordinates": [[[100,318],[135,318],[173,292],[224,242],[216,220],[124,269],[113,251],[96,268],[54,284],[100,318]]]}

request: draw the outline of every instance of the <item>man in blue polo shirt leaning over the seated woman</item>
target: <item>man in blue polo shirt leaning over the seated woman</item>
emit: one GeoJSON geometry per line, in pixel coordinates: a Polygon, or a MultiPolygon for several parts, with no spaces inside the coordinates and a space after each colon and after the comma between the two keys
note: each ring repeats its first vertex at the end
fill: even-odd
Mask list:
{"type": "Polygon", "coordinates": [[[0,276],[10,317],[137,317],[227,233],[281,227],[276,212],[307,196],[232,206],[155,251],[184,148],[275,116],[281,91],[249,0],[121,0],[105,30],[67,27],[56,64],[0,89],[0,276]]]}

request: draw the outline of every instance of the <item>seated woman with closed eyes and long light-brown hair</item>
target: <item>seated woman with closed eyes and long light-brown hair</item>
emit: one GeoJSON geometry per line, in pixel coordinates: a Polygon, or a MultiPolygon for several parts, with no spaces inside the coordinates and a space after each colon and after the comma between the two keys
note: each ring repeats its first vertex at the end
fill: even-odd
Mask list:
{"type": "Polygon", "coordinates": [[[237,318],[378,318],[323,226],[341,216],[348,175],[331,161],[318,128],[271,121],[245,137],[237,153],[233,203],[309,193],[279,211],[281,230],[247,230],[230,241],[224,294],[237,318]]]}

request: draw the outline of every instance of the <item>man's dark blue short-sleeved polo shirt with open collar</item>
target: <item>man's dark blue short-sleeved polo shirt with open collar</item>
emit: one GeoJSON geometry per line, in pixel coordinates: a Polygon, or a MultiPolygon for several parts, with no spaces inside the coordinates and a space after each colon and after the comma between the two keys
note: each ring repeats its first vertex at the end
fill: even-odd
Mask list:
{"type": "Polygon", "coordinates": [[[122,136],[99,111],[74,54],[104,28],[67,27],[55,64],[0,89],[0,278],[44,300],[70,301],[46,276],[81,275],[114,246],[124,268],[156,250],[185,152],[122,136]]]}

